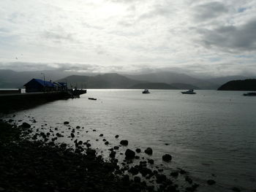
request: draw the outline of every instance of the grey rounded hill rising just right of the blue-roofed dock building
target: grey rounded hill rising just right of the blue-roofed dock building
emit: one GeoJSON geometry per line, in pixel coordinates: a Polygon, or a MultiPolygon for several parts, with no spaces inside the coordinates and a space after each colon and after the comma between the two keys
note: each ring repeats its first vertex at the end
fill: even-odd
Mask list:
{"type": "Polygon", "coordinates": [[[58,81],[67,82],[68,85],[78,88],[129,88],[140,83],[138,80],[131,80],[116,73],[98,74],[93,77],[72,75],[58,81]]]}

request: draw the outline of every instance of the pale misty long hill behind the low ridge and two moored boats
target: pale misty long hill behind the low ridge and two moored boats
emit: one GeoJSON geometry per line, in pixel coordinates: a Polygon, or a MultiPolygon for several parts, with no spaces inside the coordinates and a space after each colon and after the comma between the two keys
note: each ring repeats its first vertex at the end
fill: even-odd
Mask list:
{"type": "Polygon", "coordinates": [[[185,83],[195,86],[200,89],[217,89],[218,84],[209,82],[208,80],[200,80],[195,77],[191,77],[187,74],[180,74],[175,72],[155,72],[151,74],[137,74],[137,75],[125,75],[133,80],[141,80],[148,82],[165,82],[167,84],[173,83],[185,83]]]}

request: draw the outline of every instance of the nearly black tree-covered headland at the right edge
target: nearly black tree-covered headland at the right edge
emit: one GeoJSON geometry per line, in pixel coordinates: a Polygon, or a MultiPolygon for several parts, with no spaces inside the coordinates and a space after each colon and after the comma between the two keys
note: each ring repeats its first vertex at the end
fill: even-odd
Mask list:
{"type": "Polygon", "coordinates": [[[218,88],[219,91],[256,91],[256,79],[232,80],[218,88]]]}

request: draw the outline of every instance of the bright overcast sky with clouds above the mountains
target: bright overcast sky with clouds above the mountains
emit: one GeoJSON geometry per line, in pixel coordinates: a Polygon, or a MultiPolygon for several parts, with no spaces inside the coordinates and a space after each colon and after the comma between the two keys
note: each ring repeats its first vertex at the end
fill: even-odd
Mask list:
{"type": "Polygon", "coordinates": [[[256,0],[1,0],[0,69],[256,74],[256,0]]]}

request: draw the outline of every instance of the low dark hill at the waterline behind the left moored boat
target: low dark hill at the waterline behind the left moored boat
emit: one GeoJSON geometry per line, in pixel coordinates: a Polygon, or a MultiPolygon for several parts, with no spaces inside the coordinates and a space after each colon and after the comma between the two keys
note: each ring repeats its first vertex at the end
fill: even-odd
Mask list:
{"type": "Polygon", "coordinates": [[[178,89],[178,88],[174,87],[173,85],[169,85],[165,82],[142,82],[142,83],[132,85],[129,88],[131,88],[131,89],[144,89],[144,88],[149,88],[149,89],[178,89]]]}

